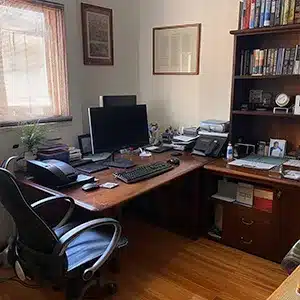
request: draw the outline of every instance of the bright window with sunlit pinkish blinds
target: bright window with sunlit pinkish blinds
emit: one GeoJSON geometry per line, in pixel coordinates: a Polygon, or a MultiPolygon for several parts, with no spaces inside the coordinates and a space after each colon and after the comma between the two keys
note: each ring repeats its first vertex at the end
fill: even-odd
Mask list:
{"type": "Polygon", "coordinates": [[[0,125],[69,115],[63,15],[58,4],[0,0],[0,125]]]}

